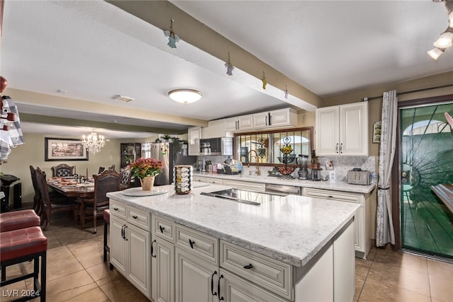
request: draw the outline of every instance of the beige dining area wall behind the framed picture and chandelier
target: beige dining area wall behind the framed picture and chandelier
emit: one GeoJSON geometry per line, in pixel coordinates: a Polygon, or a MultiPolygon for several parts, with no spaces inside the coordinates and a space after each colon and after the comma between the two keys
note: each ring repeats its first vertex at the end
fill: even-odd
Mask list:
{"type": "MultiPolygon", "coordinates": [[[[120,170],[120,144],[144,141],[154,141],[156,137],[147,139],[110,139],[105,147],[95,155],[88,154],[88,161],[44,161],[45,137],[57,137],[45,134],[24,134],[25,144],[13,148],[6,163],[0,165],[1,173],[15,175],[21,178],[22,202],[33,202],[35,191],[30,176],[30,165],[44,170],[48,177],[52,176],[51,167],[59,163],[67,163],[76,166],[76,173],[85,175],[88,168],[88,175],[98,173],[100,166],[109,167],[115,164],[115,170],[120,170]]],[[[64,137],[67,139],[80,139],[80,137],[64,137]]],[[[182,138],[182,137],[181,137],[182,138]]],[[[13,199],[10,194],[10,204],[13,199]]]]}

